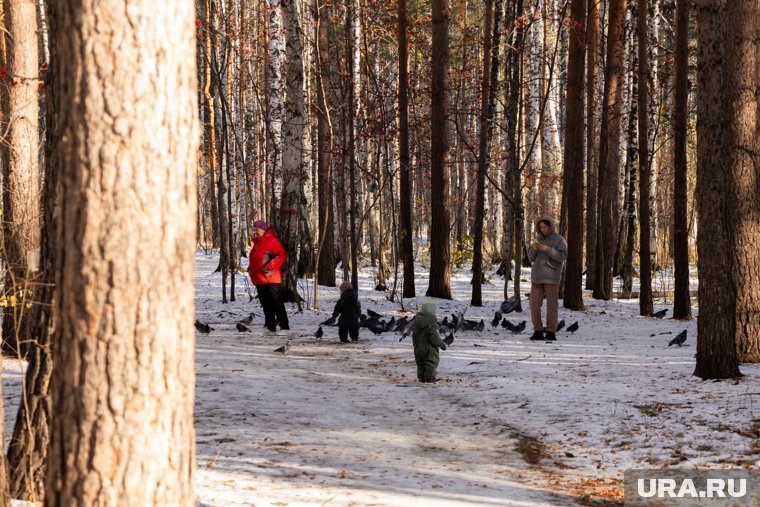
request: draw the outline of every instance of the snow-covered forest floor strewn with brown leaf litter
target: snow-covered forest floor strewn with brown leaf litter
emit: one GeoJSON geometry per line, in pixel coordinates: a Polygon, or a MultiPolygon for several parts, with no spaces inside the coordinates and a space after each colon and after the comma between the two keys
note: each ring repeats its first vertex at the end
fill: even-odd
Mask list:
{"type": "MultiPolygon", "coordinates": [[[[266,336],[258,301],[240,287],[237,301],[221,304],[217,263],[197,256],[196,315],[214,328],[197,336],[201,505],[622,505],[628,468],[760,466],[760,365],[743,365],[738,381],[693,377],[696,320],[644,318],[636,300],[589,298],[586,312],[560,308],[568,325],[579,322],[575,334],[531,342],[526,301],[508,316],[528,320],[522,334],[492,330],[503,280],[494,276],[473,308],[467,272],[455,271],[439,318],[463,311],[486,329],[458,332],[441,352],[444,380],[419,384],[410,338],[362,329],[343,344],[337,327],[313,337],[336,288],[320,288],[321,311],[289,305],[289,337],[266,336]],[[252,332],[239,333],[251,311],[252,332]],[[684,346],[668,347],[684,329],[684,346]],[[287,341],[286,355],[274,352],[287,341]]],[[[418,276],[424,294],[427,275],[418,276]]],[[[411,315],[367,290],[372,280],[369,269],[360,276],[365,312],[411,315]]],[[[4,364],[6,436],[22,367],[4,364]]]]}

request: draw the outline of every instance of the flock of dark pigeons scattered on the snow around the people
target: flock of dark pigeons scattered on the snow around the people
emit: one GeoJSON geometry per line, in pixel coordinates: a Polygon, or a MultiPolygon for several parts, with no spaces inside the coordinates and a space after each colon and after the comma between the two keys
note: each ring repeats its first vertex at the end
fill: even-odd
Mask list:
{"type": "MultiPolygon", "coordinates": [[[[503,329],[512,332],[512,334],[520,334],[523,331],[525,331],[525,327],[527,325],[526,321],[523,320],[515,324],[505,316],[505,314],[509,314],[513,312],[516,306],[517,304],[516,304],[514,296],[504,301],[501,304],[499,311],[496,311],[493,319],[491,320],[491,329],[496,330],[497,327],[502,327],[503,329]]],[[[668,310],[665,309],[665,310],[656,312],[654,313],[653,317],[662,319],[665,317],[665,314],[667,313],[667,311],[668,310]]],[[[441,335],[445,336],[443,341],[446,343],[446,345],[451,345],[454,342],[454,333],[457,331],[462,331],[462,330],[476,331],[480,333],[485,329],[485,322],[483,321],[483,319],[481,319],[479,322],[465,319],[464,314],[462,312],[452,313],[450,317],[451,318],[449,318],[449,316],[446,316],[442,320],[438,321],[438,332],[441,335]]],[[[255,314],[250,313],[246,318],[237,322],[235,324],[235,328],[241,333],[250,332],[251,329],[249,326],[253,324],[254,318],[255,318],[255,314]]],[[[390,332],[401,333],[401,338],[399,338],[399,341],[402,341],[404,338],[407,338],[411,334],[413,322],[414,322],[414,317],[400,317],[399,319],[396,319],[396,317],[391,317],[390,319],[387,319],[383,315],[373,310],[368,309],[366,315],[365,314],[360,315],[359,327],[369,329],[375,335],[380,335],[382,333],[390,333],[390,332]]],[[[319,327],[317,328],[317,331],[314,333],[314,336],[318,340],[321,340],[325,335],[324,330],[322,329],[322,326],[337,326],[337,325],[338,325],[337,319],[335,317],[330,317],[324,322],[319,323],[319,327]]],[[[565,328],[565,319],[562,319],[557,324],[557,332],[561,331],[564,328],[565,328]]],[[[208,324],[205,324],[199,320],[195,321],[195,329],[197,329],[199,333],[206,334],[206,335],[214,330],[214,328],[212,328],[208,324]]],[[[571,334],[575,334],[575,332],[578,331],[578,329],[579,329],[579,323],[577,321],[567,327],[567,331],[571,334]]],[[[684,344],[684,342],[686,342],[686,330],[683,330],[675,338],[673,338],[670,341],[670,343],[668,343],[668,347],[670,347],[671,345],[678,345],[680,347],[681,345],[684,344]]],[[[278,349],[275,350],[275,352],[286,354],[289,349],[290,349],[290,342],[286,343],[282,347],[279,347],[278,349]]]]}

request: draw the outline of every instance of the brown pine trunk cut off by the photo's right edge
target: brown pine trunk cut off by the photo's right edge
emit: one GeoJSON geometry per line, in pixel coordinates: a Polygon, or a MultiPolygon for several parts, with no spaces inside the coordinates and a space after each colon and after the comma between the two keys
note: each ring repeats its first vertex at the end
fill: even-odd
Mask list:
{"type": "Polygon", "coordinates": [[[726,195],[730,199],[726,200],[726,225],[736,290],[736,348],[741,363],[760,362],[759,17],[757,2],[726,3],[726,19],[731,23],[726,38],[726,103],[732,108],[727,127],[730,165],[726,195]]]}

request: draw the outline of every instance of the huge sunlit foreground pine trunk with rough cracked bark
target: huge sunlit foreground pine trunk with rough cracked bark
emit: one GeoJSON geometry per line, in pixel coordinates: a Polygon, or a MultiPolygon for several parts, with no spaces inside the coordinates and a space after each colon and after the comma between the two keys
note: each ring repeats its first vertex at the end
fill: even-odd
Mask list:
{"type": "Polygon", "coordinates": [[[66,255],[46,503],[190,507],[195,13],[188,2],[49,6],[66,255]]]}

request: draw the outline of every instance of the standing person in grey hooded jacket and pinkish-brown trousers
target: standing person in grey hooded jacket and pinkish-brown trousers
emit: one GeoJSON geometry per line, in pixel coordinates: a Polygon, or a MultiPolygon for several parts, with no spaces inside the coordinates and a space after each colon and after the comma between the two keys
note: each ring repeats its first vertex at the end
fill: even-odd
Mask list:
{"type": "Polygon", "coordinates": [[[559,313],[559,283],[562,264],[567,259],[567,242],[554,230],[550,217],[541,217],[539,235],[528,250],[530,269],[530,316],[533,320],[531,340],[556,340],[559,313]],[[546,298],[546,335],[541,321],[541,306],[546,298]]]}

